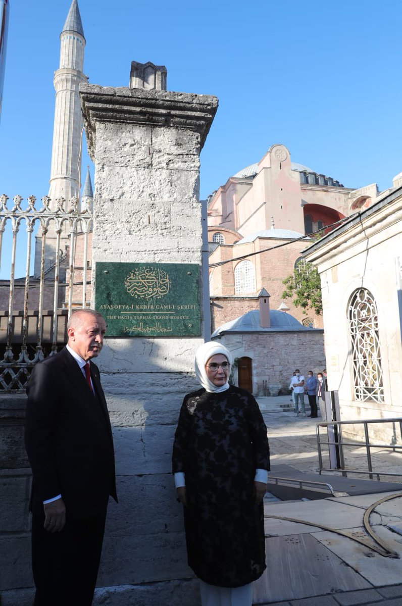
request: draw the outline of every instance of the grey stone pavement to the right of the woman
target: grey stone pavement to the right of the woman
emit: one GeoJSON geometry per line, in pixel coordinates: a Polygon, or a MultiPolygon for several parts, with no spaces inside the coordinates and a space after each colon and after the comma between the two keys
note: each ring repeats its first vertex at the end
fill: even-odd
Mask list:
{"type": "MultiPolygon", "coordinates": [[[[272,465],[291,465],[309,476],[316,472],[316,420],[296,417],[292,411],[284,412],[281,404],[290,404],[288,396],[258,398],[258,402],[268,427],[272,465]]],[[[351,468],[360,465],[366,468],[362,448],[349,448],[346,463],[351,468]]],[[[374,467],[401,471],[400,455],[378,449],[374,467]]],[[[335,475],[340,474],[317,474],[317,481],[331,482],[335,475]]],[[[383,479],[396,481],[386,476],[383,479]]],[[[363,528],[366,508],[390,494],[398,494],[398,487],[378,493],[381,485],[366,479],[364,484],[372,487],[373,492],[366,488],[359,494],[357,484],[350,478],[344,481],[346,493],[349,487],[355,486],[357,490],[353,494],[350,492],[351,496],[331,496],[315,501],[266,501],[267,571],[255,583],[253,604],[402,605],[402,499],[398,497],[378,504],[370,515],[372,529],[396,557],[385,557],[373,550],[372,547],[378,545],[363,528]],[[336,534],[328,527],[350,533],[350,538],[336,534]],[[355,537],[366,544],[353,541],[355,537]]]]}

